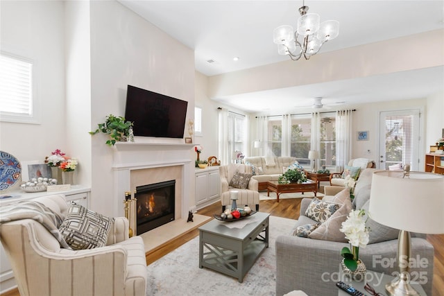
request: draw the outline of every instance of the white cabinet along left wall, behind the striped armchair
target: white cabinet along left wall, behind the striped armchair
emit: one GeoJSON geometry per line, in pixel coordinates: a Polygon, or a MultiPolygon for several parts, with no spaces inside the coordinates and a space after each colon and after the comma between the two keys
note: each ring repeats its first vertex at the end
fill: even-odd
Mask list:
{"type": "MultiPolygon", "coordinates": [[[[84,207],[88,207],[88,195],[89,188],[85,188],[80,185],[71,186],[69,191],[54,191],[54,192],[36,192],[36,193],[25,193],[23,191],[9,192],[4,195],[12,195],[12,198],[5,198],[0,200],[0,207],[4,207],[8,204],[22,201],[22,200],[32,200],[34,198],[39,198],[44,195],[52,194],[65,194],[68,202],[73,200],[77,204],[81,204],[84,207]]],[[[1,195],[1,194],[0,194],[1,195]]],[[[15,283],[14,274],[12,273],[12,268],[6,255],[3,245],[0,243],[0,294],[6,293],[8,290],[17,287],[15,283]]]]}

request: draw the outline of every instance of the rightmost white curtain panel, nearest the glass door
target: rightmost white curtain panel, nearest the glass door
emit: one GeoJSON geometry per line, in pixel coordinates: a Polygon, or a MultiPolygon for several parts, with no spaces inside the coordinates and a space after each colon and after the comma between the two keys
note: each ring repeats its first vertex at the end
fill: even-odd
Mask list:
{"type": "Polygon", "coordinates": [[[336,171],[352,158],[352,110],[336,111],[336,171]]]}

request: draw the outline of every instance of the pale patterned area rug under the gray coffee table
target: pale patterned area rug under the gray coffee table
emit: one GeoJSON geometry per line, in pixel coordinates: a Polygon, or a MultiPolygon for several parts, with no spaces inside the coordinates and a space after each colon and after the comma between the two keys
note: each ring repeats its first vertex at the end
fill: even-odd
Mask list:
{"type": "Polygon", "coordinates": [[[244,282],[199,268],[199,238],[148,265],[146,295],[275,295],[275,239],[289,235],[296,220],[270,216],[269,245],[244,277],[244,282]]]}

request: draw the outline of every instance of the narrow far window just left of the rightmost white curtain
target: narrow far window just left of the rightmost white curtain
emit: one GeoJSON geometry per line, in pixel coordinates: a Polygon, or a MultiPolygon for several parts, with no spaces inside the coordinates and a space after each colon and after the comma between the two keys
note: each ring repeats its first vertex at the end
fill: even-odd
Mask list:
{"type": "Polygon", "coordinates": [[[321,114],[319,135],[320,166],[336,166],[336,116],[321,114]]]}

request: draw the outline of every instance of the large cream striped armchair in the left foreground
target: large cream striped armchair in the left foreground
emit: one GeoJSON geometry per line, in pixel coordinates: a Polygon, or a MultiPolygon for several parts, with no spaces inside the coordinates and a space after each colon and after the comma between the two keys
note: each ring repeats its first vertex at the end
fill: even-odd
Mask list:
{"type": "MultiPolygon", "coordinates": [[[[65,218],[64,195],[36,198],[65,218]]],[[[0,224],[0,239],[22,296],[145,295],[146,258],[139,236],[128,238],[128,220],[115,218],[104,247],[61,248],[58,240],[30,218],[0,224]]]]}

